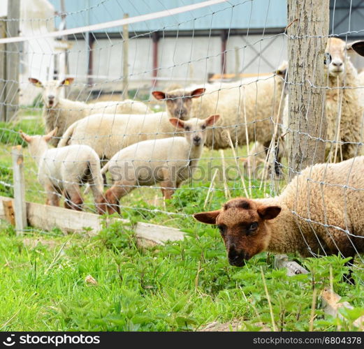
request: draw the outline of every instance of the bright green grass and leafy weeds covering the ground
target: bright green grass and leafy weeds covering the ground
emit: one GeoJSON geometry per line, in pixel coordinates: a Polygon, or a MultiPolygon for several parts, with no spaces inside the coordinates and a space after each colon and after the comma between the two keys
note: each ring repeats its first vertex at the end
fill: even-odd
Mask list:
{"type": "MultiPolygon", "coordinates": [[[[40,125],[39,119],[31,119],[5,128],[21,127],[36,133],[41,131],[40,125]]],[[[1,181],[11,181],[13,144],[17,144],[17,138],[6,138],[1,148],[1,195],[11,195],[11,188],[2,187],[1,181]]],[[[239,156],[245,154],[244,148],[239,151],[239,156]]],[[[45,195],[36,181],[36,166],[27,150],[24,154],[27,200],[44,202],[45,195]]],[[[235,165],[231,151],[226,150],[224,156],[226,166],[235,165]]],[[[201,165],[207,168],[208,158],[213,158],[212,166],[221,168],[220,157],[219,152],[206,150],[201,165]]],[[[182,331],[235,319],[241,321],[243,330],[272,329],[269,297],[279,331],[304,331],[309,329],[312,318],[314,289],[321,290],[330,283],[330,267],[335,292],[345,296],[343,300],[351,302],[354,310],[343,313],[344,320],[336,320],[323,314],[318,299],[314,329],[355,330],[351,323],[364,314],[363,265],[354,269],[356,286],[342,283],[347,268],[344,260],[335,256],[300,259],[291,255],[311,272],[292,277],[274,268],[269,253],[256,255],[245,267],[231,267],[217,230],[190,216],[196,211],[217,209],[226,201],[223,181],[216,181],[205,203],[211,174],[203,180],[196,179],[196,174],[166,202],[166,207],[160,191],[153,188],[139,188],[122,200],[124,218],[170,225],[187,233],[184,241],[166,246],[138,248],[133,231],[117,223],[104,228],[97,237],[89,237],[87,227],[82,236],[64,236],[54,228],[52,232],[30,229],[24,237],[16,237],[13,228],[3,223],[0,330],[182,331]],[[86,283],[89,275],[97,285],[86,283]]],[[[261,186],[258,180],[244,181],[245,186],[252,186],[252,198],[263,197],[272,188],[268,184],[261,186]]],[[[245,195],[240,179],[228,181],[228,187],[233,197],[245,195]]],[[[90,197],[87,205],[88,210],[93,209],[90,197]]]]}

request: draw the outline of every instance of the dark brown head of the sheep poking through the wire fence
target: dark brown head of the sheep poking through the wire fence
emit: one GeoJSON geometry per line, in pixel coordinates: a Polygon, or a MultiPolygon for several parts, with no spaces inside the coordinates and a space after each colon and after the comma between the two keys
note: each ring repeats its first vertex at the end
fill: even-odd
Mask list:
{"type": "Polygon", "coordinates": [[[268,221],[278,216],[279,206],[266,206],[255,200],[236,198],[217,211],[194,214],[197,221],[217,225],[224,239],[228,262],[245,265],[268,248],[272,231],[268,221]]]}

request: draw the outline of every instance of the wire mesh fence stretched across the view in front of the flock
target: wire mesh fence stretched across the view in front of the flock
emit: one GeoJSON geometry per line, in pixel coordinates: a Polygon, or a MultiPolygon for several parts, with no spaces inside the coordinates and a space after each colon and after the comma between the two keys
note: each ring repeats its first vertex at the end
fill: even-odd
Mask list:
{"type": "Polygon", "coordinates": [[[308,166],[284,202],[305,251],[363,251],[360,3],[87,3],[23,1],[0,22],[1,195],[22,144],[28,201],[180,228],[284,195],[308,166]]]}

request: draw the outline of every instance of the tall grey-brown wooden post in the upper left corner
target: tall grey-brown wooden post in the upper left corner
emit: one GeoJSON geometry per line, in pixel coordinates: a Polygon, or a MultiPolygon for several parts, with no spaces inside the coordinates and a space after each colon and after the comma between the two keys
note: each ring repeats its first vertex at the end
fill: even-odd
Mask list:
{"type": "MultiPolygon", "coordinates": [[[[19,36],[20,0],[8,1],[6,36],[19,36]]],[[[19,105],[19,43],[6,44],[6,121],[11,121],[19,105]]]]}

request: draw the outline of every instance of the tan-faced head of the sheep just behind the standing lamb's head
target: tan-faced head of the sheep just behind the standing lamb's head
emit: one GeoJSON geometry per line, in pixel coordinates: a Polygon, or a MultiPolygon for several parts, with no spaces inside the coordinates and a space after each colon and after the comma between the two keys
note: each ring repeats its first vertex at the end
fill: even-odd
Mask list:
{"type": "Polygon", "coordinates": [[[173,91],[153,91],[152,95],[159,101],[166,101],[170,117],[188,120],[191,117],[192,98],[201,97],[205,93],[204,88],[187,91],[175,89],[173,91]]]}

